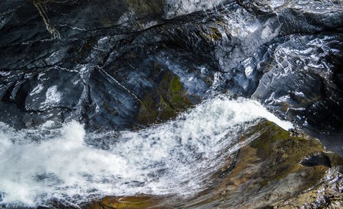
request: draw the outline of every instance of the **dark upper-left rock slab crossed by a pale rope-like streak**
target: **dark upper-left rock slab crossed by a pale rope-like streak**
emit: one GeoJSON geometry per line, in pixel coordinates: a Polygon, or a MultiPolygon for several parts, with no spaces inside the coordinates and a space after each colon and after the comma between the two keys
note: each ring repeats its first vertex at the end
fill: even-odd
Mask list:
{"type": "MultiPolygon", "coordinates": [[[[122,25],[123,28],[144,28],[150,16],[161,16],[161,1],[5,1],[1,15],[8,20],[3,26],[5,36],[0,36],[0,45],[19,41],[37,41],[55,38],[67,38],[90,32],[94,29],[122,25]],[[11,16],[11,12],[15,16],[11,16]],[[90,12],[93,15],[89,15],[90,12]],[[134,25],[133,21],[141,25],[134,25]],[[22,27],[21,33],[16,27],[22,27]],[[31,30],[31,31],[30,31],[31,30]]],[[[2,8],[2,5],[1,5],[2,8]]],[[[1,33],[3,35],[3,33],[1,33]]]]}

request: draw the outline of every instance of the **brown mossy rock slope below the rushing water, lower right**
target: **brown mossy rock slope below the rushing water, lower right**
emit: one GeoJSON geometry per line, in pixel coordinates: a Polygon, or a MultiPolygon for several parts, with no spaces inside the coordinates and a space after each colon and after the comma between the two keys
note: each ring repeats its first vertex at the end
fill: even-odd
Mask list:
{"type": "Polygon", "coordinates": [[[241,135],[240,143],[235,164],[215,173],[210,188],[196,197],[106,197],[84,208],[342,206],[342,158],[325,151],[316,138],[293,134],[274,123],[261,121],[241,135]]]}

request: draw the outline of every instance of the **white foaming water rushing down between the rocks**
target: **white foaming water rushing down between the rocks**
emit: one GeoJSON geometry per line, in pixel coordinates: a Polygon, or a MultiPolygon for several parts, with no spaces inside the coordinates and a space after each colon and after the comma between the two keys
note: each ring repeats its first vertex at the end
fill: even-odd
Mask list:
{"type": "Polygon", "coordinates": [[[71,121],[16,131],[0,123],[1,204],[78,204],[104,195],[190,195],[239,148],[239,131],[265,118],[257,101],[220,96],[137,132],[86,133],[71,121]],[[224,151],[225,150],[225,151],[224,151]]]}

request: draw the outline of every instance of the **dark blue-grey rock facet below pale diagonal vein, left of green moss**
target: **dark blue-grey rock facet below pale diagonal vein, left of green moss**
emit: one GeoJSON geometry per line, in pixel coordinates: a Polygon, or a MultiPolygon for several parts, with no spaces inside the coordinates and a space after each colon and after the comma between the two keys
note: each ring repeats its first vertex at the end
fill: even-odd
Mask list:
{"type": "Polygon", "coordinates": [[[102,69],[94,69],[90,73],[86,101],[90,105],[83,112],[87,125],[95,129],[123,128],[132,123],[139,100],[116,81],[102,69]]]}

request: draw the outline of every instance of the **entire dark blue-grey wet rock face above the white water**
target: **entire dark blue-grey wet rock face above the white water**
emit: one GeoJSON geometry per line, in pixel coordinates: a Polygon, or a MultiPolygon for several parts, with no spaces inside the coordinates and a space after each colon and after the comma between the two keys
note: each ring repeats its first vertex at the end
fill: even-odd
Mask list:
{"type": "Polygon", "coordinates": [[[339,2],[5,0],[0,8],[0,120],[14,127],[77,119],[121,130],[222,91],[261,99],[305,127],[342,127],[339,2]]]}

